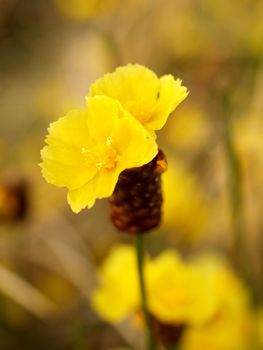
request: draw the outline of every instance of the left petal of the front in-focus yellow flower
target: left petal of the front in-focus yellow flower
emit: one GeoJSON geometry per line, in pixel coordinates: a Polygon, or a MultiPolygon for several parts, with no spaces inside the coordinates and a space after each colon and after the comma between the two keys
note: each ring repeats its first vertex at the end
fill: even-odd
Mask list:
{"type": "Polygon", "coordinates": [[[71,111],[52,123],[41,150],[42,174],[47,182],[70,189],[79,188],[96,174],[95,166],[87,162],[82,150],[90,146],[87,115],[71,111]]]}

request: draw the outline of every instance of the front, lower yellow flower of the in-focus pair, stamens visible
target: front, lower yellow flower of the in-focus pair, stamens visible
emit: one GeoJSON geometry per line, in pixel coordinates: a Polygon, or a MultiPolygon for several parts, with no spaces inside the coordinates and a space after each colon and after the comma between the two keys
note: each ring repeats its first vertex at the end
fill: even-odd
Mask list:
{"type": "Polygon", "coordinates": [[[151,161],[155,141],[117,101],[106,96],[88,99],[88,110],[73,110],[52,123],[41,151],[47,182],[68,188],[74,212],[109,197],[126,168],[151,161]]]}

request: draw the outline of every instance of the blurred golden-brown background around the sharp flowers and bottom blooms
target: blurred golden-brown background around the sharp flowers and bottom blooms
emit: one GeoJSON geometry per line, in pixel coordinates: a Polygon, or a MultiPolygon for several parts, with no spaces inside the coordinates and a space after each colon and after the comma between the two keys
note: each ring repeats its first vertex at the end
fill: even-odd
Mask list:
{"type": "Polygon", "coordinates": [[[1,350],[134,346],[129,326],[102,322],[89,303],[97,266],[130,237],[106,200],[73,214],[38,167],[49,123],[127,63],[190,90],[158,135],[169,171],[151,254],[217,251],[261,304],[262,17],[262,0],[0,0],[1,350]]]}

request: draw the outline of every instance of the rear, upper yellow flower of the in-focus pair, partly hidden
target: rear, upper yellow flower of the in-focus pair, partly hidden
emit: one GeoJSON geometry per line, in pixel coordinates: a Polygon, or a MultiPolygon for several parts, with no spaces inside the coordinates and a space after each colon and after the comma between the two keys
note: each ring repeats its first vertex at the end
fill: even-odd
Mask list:
{"type": "Polygon", "coordinates": [[[152,131],[164,126],[169,114],[188,92],[181,80],[175,80],[172,75],[158,78],[144,66],[128,64],[92,84],[89,96],[96,95],[118,100],[125,110],[152,131]]]}

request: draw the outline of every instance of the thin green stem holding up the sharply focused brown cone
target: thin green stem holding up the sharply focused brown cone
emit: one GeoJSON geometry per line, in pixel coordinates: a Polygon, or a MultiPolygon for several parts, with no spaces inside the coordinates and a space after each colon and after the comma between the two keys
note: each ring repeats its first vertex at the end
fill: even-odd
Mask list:
{"type": "Polygon", "coordinates": [[[145,290],[145,281],[144,281],[144,235],[137,234],[135,235],[135,245],[137,253],[137,267],[138,267],[138,277],[139,285],[141,292],[141,303],[144,313],[144,319],[147,327],[148,335],[148,350],[156,350],[156,344],[154,340],[153,330],[152,330],[152,321],[147,307],[147,295],[145,290]]]}

